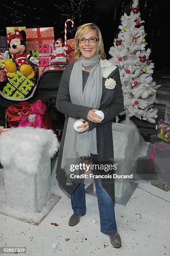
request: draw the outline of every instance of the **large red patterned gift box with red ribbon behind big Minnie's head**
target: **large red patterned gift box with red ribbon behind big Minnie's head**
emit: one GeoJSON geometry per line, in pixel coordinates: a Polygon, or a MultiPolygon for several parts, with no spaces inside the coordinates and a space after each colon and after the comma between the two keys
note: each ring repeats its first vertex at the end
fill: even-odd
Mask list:
{"type": "Polygon", "coordinates": [[[27,50],[38,50],[40,44],[53,44],[54,30],[48,28],[26,28],[27,38],[25,41],[27,50]]]}

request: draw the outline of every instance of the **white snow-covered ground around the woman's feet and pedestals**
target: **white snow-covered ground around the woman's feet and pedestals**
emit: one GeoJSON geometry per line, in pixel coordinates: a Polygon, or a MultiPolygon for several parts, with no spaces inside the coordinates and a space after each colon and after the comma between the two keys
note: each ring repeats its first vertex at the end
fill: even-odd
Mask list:
{"type": "MultiPolygon", "coordinates": [[[[4,190],[3,169],[0,169],[0,203],[5,200],[4,190]]],[[[68,221],[73,213],[70,197],[58,186],[55,168],[51,190],[61,200],[38,226],[0,214],[0,246],[25,246],[26,256],[170,255],[170,191],[143,182],[126,206],[115,205],[122,247],[114,248],[109,236],[100,232],[96,197],[86,195],[86,215],[79,224],[70,227],[68,221]]]]}

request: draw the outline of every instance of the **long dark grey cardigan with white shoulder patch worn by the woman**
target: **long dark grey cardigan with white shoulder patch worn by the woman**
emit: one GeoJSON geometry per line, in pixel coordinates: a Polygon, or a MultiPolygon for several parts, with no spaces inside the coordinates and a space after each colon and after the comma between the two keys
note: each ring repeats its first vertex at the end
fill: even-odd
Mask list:
{"type": "MultiPolygon", "coordinates": [[[[73,182],[72,186],[66,186],[66,176],[63,170],[60,169],[61,167],[61,160],[63,154],[63,145],[66,135],[66,128],[69,116],[75,119],[83,118],[87,120],[89,123],[89,131],[96,127],[96,136],[97,136],[97,151],[98,155],[95,155],[94,159],[96,164],[114,164],[114,152],[113,152],[113,138],[112,138],[112,120],[118,115],[123,107],[123,94],[122,94],[122,84],[120,82],[119,76],[119,69],[112,65],[109,61],[104,60],[109,67],[103,67],[104,65],[101,64],[101,67],[104,68],[103,74],[109,74],[107,78],[112,78],[116,81],[116,87],[114,89],[107,89],[104,85],[106,81],[106,77],[103,77],[103,85],[102,85],[102,95],[101,95],[101,102],[99,106],[99,110],[102,110],[104,113],[104,120],[101,123],[93,123],[87,120],[87,114],[91,107],[86,107],[82,105],[76,105],[71,103],[70,95],[69,95],[69,80],[71,76],[71,71],[74,66],[74,62],[67,65],[66,69],[63,72],[61,77],[61,82],[57,94],[56,99],[56,108],[59,112],[66,115],[64,128],[63,128],[63,135],[61,138],[61,145],[58,154],[58,164],[56,169],[56,175],[58,182],[62,185],[62,187],[68,192],[70,195],[76,189],[78,184],[82,181],[79,179],[79,182],[73,182]],[[107,62],[106,62],[107,61],[107,62]],[[113,71],[112,71],[113,70],[113,71]]],[[[83,75],[84,77],[84,75],[83,75]]],[[[84,79],[83,79],[84,81],[84,79]]],[[[83,82],[83,90],[85,87],[86,81],[83,82]]],[[[69,146],[69,145],[68,145],[69,146]]],[[[109,172],[101,172],[99,174],[113,174],[113,171],[109,172]]],[[[103,187],[107,190],[108,194],[112,197],[115,202],[114,197],[114,178],[113,179],[101,179],[103,187]]]]}

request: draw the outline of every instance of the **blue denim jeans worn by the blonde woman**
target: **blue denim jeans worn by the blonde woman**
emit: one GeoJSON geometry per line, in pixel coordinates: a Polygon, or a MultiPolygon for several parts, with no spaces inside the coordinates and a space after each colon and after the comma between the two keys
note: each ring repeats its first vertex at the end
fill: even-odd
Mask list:
{"type": "MultiPolygon", "coordinates": [[[[93,164],[93,157],[91,157],[91,163],[93,164]]],[[[93,170],[93,174],[96,175],[99,174],[99,172],[97,170],[93,170]]],[[[114,201],[104,187],[102,187],[100,179],[94,178],[94,182],[96,185],[96,194],[99,206],[100,230],[102,233],[112,234],[117,231],[114,201]]],[[[86,212],[84,182],[81,182],[71,194],[71,206],[75,215],[81,215],[83,212],[86,212]]]]}

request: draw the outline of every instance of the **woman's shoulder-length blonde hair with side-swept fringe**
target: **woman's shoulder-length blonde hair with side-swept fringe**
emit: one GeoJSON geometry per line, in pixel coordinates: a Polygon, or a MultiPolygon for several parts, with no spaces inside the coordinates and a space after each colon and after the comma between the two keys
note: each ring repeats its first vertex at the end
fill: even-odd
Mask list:
{"type": "Polygon", "coordinates": [[[81,52],[79,50],[79,43],[78,43],[78,39],[83,37],[84,34],[86,34],[89,30],[94,29],[97,33],[98,39],[99,39],[99,43],[97,45],[97,51],[96,54],[98,54],[99,59],[106,59],[106,54],[104,53],[104,44],[103,44],[103,39],[101,36],[101,32],[98,26],[96,26],[94,23],[86,23],[82,26],[80,26],[77,31],[76,31],[76,35],[75,35],[75,55],[74,55],[74,61],[77,61],[80,59],[81,56],[81,52]]]}

